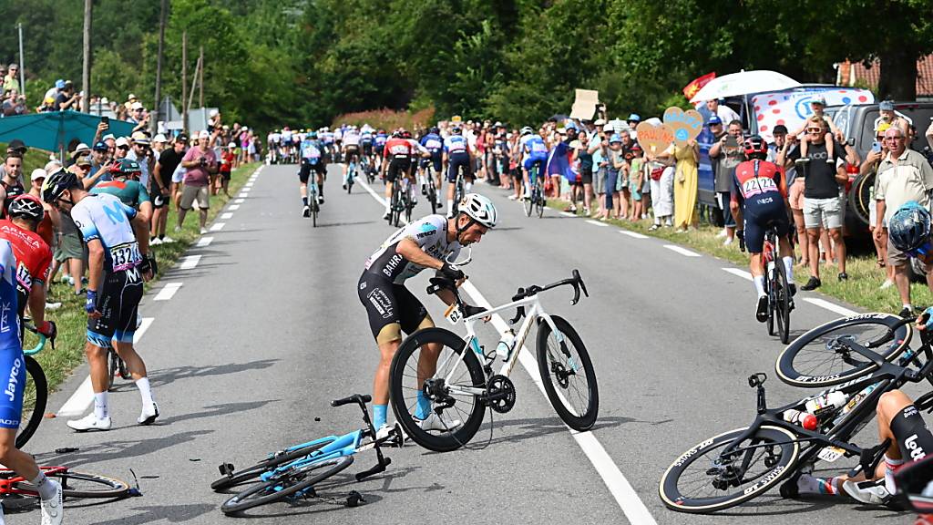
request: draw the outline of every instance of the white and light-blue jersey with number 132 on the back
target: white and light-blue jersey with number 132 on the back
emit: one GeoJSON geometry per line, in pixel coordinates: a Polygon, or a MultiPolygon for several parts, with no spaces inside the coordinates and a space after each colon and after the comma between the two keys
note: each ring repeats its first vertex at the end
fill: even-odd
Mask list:
{"type": "Polygon", "coordinates": [[[109,193],[91,193],[71,209],[84,242],[97,239],[104,245],[104,272],[132,270],[143,261],[130,223],[134,217],[135,208],[109,193]]]}

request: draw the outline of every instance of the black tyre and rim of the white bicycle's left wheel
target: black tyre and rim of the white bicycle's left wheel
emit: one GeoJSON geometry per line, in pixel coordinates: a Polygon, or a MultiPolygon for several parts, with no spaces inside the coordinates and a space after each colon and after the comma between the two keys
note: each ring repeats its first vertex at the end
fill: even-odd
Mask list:
{"type": "MultiPolygon", "coordinates": [[[[396,420],[402,425],[412,441],[435,452],[449,452],[466,445],[480,430],[486,412],[486,405],[480,401],[479,396],[474,395],[472,398],[474,403],[469,409],[466,421],[461,419],[463,424],[455,431],[445,433],[445,435],[438,435],[422,430],[419,422],[412,415],[411,408],[406,405],[406,399],[412,399],[411,395],[406,396],[406,390],[420,390],[422,387],[417,382],[415,383],[417,389],[406,386],[405,373],[410,368],[407,363],[412,354],[424,345],[432,343],[442,345],[441,352],[443,352],[444,348],[450,348],[458,355],[463,355],[463,363],[469,373],[467,386],[485,390],[486,376],[476,354],[472,349],[466,348],[466,341],[456,333],[435,327],[412,333],[398,347],[389,372],[389,398],[392,401],[392,411],[396,415],[396,420]]],[[[417,379],[415,378],[415,380],[417,379]]]]}

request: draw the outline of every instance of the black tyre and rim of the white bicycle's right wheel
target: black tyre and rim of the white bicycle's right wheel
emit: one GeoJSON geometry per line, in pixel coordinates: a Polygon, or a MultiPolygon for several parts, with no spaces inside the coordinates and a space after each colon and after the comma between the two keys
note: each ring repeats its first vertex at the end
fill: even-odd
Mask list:
{"type": "MultiPolygon", "coordinates": [[[[578,432],[588,431],[596,422],[596,416],[599,413],[599,387],[596,383],[596,371],[593,370],[590,353],[583,345],[583,340],[580,339],[577,331],[566,319],[559,316],[550,316],[550,319],[554,321],[554,325],[557,329],[561,333],[564,333],[565,340],[569,339],[574,349],[577,350],[580,364],[586,375],[586,390],[588,390],[589,399],[585,401],[585,408],[576,408],[578,415],[571,413],[564,405],[564,400],[567,398],[564,397],[563,393],[558,392],[557,387],[570,393],[570,383],[568,381],[567,385],[564,386],[560,384],[560,379],[558,378],[558,384],[556,386],[554,384],[555,377],[551,374],[551,371],[555,366],[563,367],[564,362],[553,362],[553,356],[548,347],[551,333],[550,324],[542,320],[537,329],[537,370],[541,375],[541,382],[544,383],[544,391],[548,394],[548,400],[554,407],[557,415],[564,420],[564,423],[566,423],[568,427],[578,432]]],[[[576,376],[576,374],[573,376],[576,376]]]]}

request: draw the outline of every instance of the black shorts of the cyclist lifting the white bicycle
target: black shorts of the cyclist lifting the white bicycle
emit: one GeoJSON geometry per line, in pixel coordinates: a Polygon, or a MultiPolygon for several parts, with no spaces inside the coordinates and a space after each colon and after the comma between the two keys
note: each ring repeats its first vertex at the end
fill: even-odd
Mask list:
{"type": "Polygon", "coordinates": [[[372,336],[379,344],[400,341],[402,331],[411,334],[434,326],[425,305],[407,288],[389,279],[364,270],[356,292],[366,307],[372,336]]]}

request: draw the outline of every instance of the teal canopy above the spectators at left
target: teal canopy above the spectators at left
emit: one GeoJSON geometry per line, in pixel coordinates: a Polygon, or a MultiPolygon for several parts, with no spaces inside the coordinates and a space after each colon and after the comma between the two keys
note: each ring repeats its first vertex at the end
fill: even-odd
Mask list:
{"type": "MultiPolygon", "coordinates": [[[[74,139],[91,145],[101,118],[77,111],[50,111],[0,119],[0,142],[19,138],[28,148],[57,151],[64,156],[68,143],[74,139]]],[[[110,121],[107,132],[115,136],[129,136],[133,124],[110,121]]]]}

